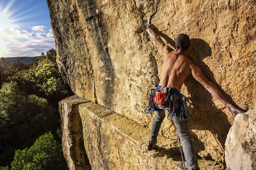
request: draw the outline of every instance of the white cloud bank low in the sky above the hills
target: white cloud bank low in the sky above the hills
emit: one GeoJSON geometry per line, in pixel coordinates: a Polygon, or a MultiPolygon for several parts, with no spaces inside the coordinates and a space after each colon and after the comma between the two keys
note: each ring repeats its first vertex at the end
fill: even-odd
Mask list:
{"type": "Polygon", "coordinates": [[[38,56],[42,52],[55,48],[54,34],[51,29],[45,29],[47,27],[42,25],[30,28],[33,31],[12,27],[4,34],[0,34],[0,43],[4,43],[4,50],[0,49],[1,56],[38,56]]]}

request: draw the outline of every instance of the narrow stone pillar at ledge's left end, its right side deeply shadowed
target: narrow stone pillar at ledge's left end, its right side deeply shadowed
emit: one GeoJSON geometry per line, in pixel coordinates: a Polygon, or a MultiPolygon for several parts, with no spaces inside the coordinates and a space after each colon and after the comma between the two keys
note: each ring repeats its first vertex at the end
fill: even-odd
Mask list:
{"type": "Polygon", "coordinates": [[[83,141],[83,129],[78,106],[88,100],[77,96],[68,97],[59,103],[62,130],[62,149],[68,169],[91,169],[83,141]]]}

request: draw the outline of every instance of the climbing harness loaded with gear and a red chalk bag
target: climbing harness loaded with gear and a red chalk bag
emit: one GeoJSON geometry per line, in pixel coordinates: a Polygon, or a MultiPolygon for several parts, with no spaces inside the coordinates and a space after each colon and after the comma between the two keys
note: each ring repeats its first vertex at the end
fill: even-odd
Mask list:
{"type": "Polygon", "coordinates": [[[144,110],[145,113],[150,113],[153,115],[154,111],[160,111],[159,105],[168,104],[168,119],[172,119],[177,113],[175,111],[175,101],[174,96],[179,96],[180,105],[180,120],[189,122],[192,114],[188,110],[188,104],[186,97],[179,92],[179,90],[169,87],[163,87],[161,85],[156,85],[156,89],[150,89],[148,92],[148,106],[144,110]]]}

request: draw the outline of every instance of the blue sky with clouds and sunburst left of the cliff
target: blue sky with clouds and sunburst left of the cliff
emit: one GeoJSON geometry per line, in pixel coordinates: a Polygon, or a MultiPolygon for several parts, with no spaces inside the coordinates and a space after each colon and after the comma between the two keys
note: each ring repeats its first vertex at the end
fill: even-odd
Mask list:
{"type": "Polygon", "coordinates": [[[38,56],[51,48],[46,0],[0,0],[0,57],[38,56]]]}

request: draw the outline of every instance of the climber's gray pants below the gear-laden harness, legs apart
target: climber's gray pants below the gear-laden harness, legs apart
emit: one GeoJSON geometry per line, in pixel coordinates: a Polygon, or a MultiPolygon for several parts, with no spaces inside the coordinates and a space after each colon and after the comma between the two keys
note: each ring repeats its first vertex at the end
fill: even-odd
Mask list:
{"type": "MultiPolygon", "coordinates": [[[[179,108],[178,105],[179,104],[177,104],[177,106],[175,106],[175,111],[176,111],[176,109],[179,108]]],[[[150,138],[148,139],[148,141],[151,141],[152,143],[157,143],[157,136],[159,133],[159,129],[160,129],[163,119],[165,117],[164,110],[168,110],[168,106],[160,105],[159,109],[161,109],[161,110],[155,111],[156,116],[152,122],[150,138]]],[[[179,113],[179,112],[176,112],[176,113],[179,113]]],[[[176,114],[175,116],[173,116],[172,120],[173,120],[173,123],[178,132],[180,141],[182,143],[182,149],[184,152],[184,156],[185,156],[185,159],[187,162],[188,169],[193,169],[193,168],[199,169],[198,162],[196,160],[195,149],[194,149],[194,146],[193,146],[193,143],[191,140],[191,136],[190,136],[189,130],[188,130],[188,122],[180,120],[179,114],[176,114]]]]}

